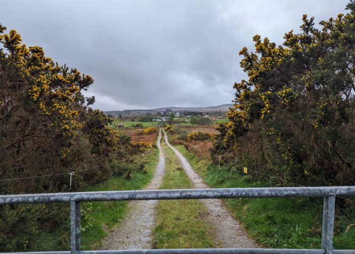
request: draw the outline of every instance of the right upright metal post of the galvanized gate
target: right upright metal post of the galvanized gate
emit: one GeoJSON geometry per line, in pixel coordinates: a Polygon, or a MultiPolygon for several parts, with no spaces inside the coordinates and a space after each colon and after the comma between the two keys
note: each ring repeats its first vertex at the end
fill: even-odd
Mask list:
{"type": "Polygon", "coordinates": [[[335,195],[324,198],[323,225],[322,225],[322,249],[326,254],[333,253],[335,195]]]}

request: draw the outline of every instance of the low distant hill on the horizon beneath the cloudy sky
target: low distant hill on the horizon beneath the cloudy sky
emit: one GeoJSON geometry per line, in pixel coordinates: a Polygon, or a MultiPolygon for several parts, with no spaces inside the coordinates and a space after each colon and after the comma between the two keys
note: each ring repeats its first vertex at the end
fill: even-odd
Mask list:
{"type": "Polygon", "coordinates": [[[182,107],[163,107],[163,108],[154,108],[154,109],[128,109],[128,110],[112,110],[104,111],[105,114],[111,114],[114,116],[118,115],[141,115],[141,114],[156,114],[157,112],[165,112],[166,110],[171,110],[173,112],[179,111],[192,111],[192,112],[210,112],[210,111],[221,111],[226,112],[229,108],[233,107],[233,104],[223,104],[218,106],[209,106],[209,107],[195,107],[195,108],[182,108],[182,107]]]}

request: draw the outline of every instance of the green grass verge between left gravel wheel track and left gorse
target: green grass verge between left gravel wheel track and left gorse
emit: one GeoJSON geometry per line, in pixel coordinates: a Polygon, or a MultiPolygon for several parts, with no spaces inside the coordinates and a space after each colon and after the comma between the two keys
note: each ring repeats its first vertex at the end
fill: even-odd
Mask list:
{"type": "MultiPolygon", "coordinates": [[[[158,149],[153,149],[138,157],[144,162],[145,171],[132,172],[133,177],[125,175],[95,184],[85,191],[134,190],[149,184],[158,164],[158,149]]],[[[128,212],[128,201],[83,202],[82,203],[82,249],[94,249],[100,241],[108,236],[108,230],[122,221],[128,212]]]]}

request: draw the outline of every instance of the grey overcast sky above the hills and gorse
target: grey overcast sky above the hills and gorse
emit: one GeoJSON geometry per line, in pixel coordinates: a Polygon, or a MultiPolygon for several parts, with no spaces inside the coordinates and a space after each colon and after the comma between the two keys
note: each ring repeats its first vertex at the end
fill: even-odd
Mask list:
{"type": "Polygon", "coordinates": [[[281,44],[303,14],[318,23],[347,2],[0,0],[0,23],[91,75],[94,108],[215,106],[233,100],[245,78],[238,52],[254,50],[254,35],[281,44]]]}

